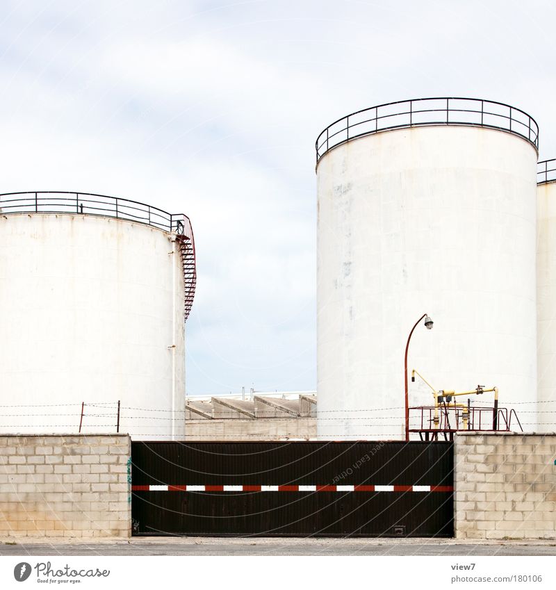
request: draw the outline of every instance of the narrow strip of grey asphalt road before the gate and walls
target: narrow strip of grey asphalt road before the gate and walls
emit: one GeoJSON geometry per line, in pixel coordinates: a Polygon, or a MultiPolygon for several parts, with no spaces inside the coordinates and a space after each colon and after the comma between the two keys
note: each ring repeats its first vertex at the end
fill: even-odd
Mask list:
{"type": "Polygon", "coordinates": [[[0,544],[0,555],[556,555],[556,541],[469,543],[453,539],[132,539],[0,544]]]}

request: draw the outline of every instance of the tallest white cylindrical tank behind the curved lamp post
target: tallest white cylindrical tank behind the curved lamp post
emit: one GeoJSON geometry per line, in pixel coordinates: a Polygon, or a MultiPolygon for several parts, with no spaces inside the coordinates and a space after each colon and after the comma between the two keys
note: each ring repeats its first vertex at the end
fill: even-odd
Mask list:
{"type": "Polygon", "coordinates": [[[475,99],[377,106],[321,133],[320,439],[403,438],[424,313],[410,407],[434,402],[413,368],[436,390],[535,402],[537,137],[523,111],[475,99]]]}

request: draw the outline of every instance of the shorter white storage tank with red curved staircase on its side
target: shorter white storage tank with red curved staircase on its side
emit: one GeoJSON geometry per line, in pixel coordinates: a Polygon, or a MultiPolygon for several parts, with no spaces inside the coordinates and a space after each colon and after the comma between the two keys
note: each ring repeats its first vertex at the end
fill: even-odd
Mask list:
{"type": "Polygon", "coordinates": [[[0,196],[0,432],[183,436],[189,230],[126,199],[0,196]]]}

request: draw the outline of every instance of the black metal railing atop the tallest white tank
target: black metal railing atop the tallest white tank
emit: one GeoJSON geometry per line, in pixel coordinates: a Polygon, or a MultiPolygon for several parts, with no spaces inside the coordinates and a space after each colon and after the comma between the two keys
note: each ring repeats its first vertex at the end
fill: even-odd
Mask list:
{"type": "Polygon", "coordinates": [[[498,129],[528,140],[539,150],[539,126],[523,110],[484,99],[442,97],[379,104],[338,119],[316,140],[317,163],[327,151],[353,139],[390,129],[427,125],[498,129]]]}

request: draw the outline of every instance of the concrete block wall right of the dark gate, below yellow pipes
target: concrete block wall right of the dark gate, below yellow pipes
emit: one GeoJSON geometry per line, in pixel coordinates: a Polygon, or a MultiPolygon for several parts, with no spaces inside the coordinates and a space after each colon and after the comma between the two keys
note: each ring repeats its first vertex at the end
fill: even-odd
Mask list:
{"type": "Polygon", "coordinates": [[[455,436],[455,536],[556,538],[556,434],[455,436]]]}

